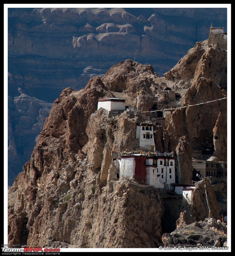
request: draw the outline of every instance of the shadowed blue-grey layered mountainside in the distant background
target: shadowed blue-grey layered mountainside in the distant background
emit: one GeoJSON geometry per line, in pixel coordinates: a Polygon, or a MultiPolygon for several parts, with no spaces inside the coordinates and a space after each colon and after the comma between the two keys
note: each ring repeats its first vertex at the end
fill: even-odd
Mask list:
{"type": "Polygon", "coordinates": [[[22,124],[29,113],[15,103],[19,87],[52,104],[64,88],[80,90],[126,59],[151,64],[163,76],[195,42],[208,38],[211,22],[226,31],[227,9],[8,8],[9,185],[42,130],[34,129],[41,108],[29,111],[30,125],[22,124]]]}

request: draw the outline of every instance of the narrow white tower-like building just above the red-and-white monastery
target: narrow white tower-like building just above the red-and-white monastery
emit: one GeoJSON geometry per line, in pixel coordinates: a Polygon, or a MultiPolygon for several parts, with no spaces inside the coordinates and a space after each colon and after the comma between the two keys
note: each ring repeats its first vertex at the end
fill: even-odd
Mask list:
{"type": "Polygon", "coordinates": [[[141,123],[136,125],[136,139],[139,140],[141,149],[155,151],[155,141],[152,123],[141,123]]]}

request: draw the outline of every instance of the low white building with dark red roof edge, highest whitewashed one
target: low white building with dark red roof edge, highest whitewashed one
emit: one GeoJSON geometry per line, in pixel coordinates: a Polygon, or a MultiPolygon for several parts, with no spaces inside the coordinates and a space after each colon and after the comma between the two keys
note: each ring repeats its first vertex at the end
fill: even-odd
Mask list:
{"type": "Polygon", "coordinates": [[[99,98],[97,109],[99,108],[104,108],[107,111],[114,111],[114,110],[124,111],[126,109],[125,100],[118,99],[118,98],[99,98]]]}

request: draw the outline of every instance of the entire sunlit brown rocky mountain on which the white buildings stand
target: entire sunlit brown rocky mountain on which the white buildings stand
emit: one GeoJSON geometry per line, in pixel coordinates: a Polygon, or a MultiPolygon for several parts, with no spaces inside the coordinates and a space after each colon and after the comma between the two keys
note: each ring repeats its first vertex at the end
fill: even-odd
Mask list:
{"type": "MultiPolygon", "coordinates": [[[[208,45],[206,40],[189,50],[165,77],[159,77],[151,65],[128,59],[112,66],[102,78],[94,76],[80,91],[64,89],[52,105],[30,160],[10,190],[9,195],[17,196],[14,204],[12,198],[9,203],[8,243],[54,248],[155,248],[165,244],[163,233],[170,234],[194,221],[200,223],[208,216],[221,229],[217,221],[221,209],[210,180],[196,183],[192,203],[185,204],[173,191],[119,178],[116,158],[122,150],[140,149],[136,124],[158,117],[157,111],[149,111],[180,106],[176,98],[161,99],[164,89],[181,94],[181,107],[223,98],[224,59],[226,51],[218,44],[208,45]],[[190,75],[193,65],[188,60],[193,54],[195,72],[190,75]],[[187,79],[180,78],[183,69],[189,70],[189,76],[183,72],[187,79]],[[110,116],[102,108],[97,110],[98,99],[104,95],[136,106],[137,92],[139,111],[147,112],[135,115],[123,111],[110,116]]],[[[226,152],[226,125],[222,121],[226,100],[202,106],[176,109],[168,127],[153,126],[156,151],[173,151],[176,180],[180,171],[181,184],[192,181],[193,149],[205,144],[213,148],[216,141],[215,155],[226,160],[219,154],[226,152]]],[[[175,235],[168,236],[175,241],[175,235]]],[[[221,244],[225,240],[219,239],[221,244]]],[[[209,244],[214,243],[216,238],[209,244]]]]}

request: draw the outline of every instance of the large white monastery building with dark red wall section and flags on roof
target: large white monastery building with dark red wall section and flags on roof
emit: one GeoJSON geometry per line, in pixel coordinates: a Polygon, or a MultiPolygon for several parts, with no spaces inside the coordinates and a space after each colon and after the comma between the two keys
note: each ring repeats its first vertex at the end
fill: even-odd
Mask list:
{"type": "Polygon", "coordinates": [[[175,183],[174,156],[123,155],[119,167],[120,177],[133,178],[140,184],[170,190],[175,183]]]}

